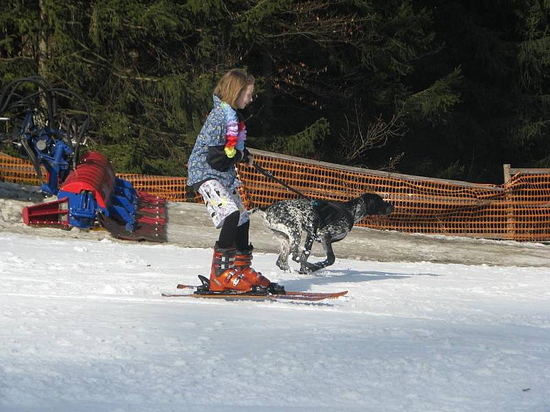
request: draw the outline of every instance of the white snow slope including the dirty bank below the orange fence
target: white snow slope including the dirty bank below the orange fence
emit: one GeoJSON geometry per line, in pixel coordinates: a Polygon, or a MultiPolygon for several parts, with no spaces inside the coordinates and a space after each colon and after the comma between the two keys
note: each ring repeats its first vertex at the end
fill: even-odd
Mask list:
{"type": "Polygon", "coordinates": [[[25,227],[34,188],[0,196],[2,412],[550,410],[547,244],[353,229],[300,275],[253,219],[256,269],[348,295],[168,298],[209,271],[200,205],[170,205],[153,244],[25,227]]]}

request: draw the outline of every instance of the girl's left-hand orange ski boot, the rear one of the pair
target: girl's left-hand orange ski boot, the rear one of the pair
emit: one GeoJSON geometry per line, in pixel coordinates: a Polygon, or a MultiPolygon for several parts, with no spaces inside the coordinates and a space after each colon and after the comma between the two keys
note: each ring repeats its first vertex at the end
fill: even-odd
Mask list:
{"type": "Polygon", "coordinates": [[[210,291],[225,292],[235,290],[237,292],[250,292],[252,283],[245,275],[234,267],[235,248],[220,248],[218,243],[214,245],[214,257],[210,269],[210,291]]]}

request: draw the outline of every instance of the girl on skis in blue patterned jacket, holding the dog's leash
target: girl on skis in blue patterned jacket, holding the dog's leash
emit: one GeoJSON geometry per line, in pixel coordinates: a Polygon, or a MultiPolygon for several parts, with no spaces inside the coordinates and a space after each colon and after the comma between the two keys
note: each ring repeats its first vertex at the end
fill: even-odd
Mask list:
{"type": "Polygon", "coordinates": [[[221,228],[214,244],[210,269],[210,290],[248,292],[254,286],[277,291],[278,285],[252,266],[252,244],[248,242],[248,211],[236,188],[234,165],[253,159],[245,148],[246,127],[236,110],[252,102],[254,77],[241,69],[225,73],[214,89],[214,108],[197,137],[188,163],[188,185],[203,196],[206,209],[221,228]]]}

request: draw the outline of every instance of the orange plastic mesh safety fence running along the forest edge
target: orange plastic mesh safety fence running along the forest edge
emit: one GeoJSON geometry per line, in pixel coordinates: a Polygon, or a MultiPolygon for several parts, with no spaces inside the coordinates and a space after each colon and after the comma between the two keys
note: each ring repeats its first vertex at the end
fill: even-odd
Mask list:
{"type": "MultiPolygon", "coordinates": [[[[358,225],[373,229],[518,241],[550,240],[550,170],[516,172],[503,185],[430,179],[251,150],[254,160],[311,198],[347,201],[364,192],[380,194],[395,209],[358,225]]],[[[239,163],[245,206],[263,207],[298,197],[239,163]]],[[[142,190],[169,201],[201,202],[186,179],[118,174],[142,190]]],[[[39,185],[31,163],[0,155],[0,180],[39,185]]]]}

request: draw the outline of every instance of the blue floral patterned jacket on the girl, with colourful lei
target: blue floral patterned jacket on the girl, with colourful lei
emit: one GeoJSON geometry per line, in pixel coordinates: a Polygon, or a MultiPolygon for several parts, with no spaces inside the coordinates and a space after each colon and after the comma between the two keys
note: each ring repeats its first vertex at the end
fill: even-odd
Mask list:
{"type": "Polygon", "coordinates": [[[217,95],[213,99],[214,108],[189,157],[187,185],[197,189],[203,182],[215,179],[228,189],[234,189],[241,184],[234,165],[249,155],[244,147],[246,128],[229,104],[217,95]]]}

